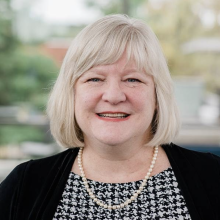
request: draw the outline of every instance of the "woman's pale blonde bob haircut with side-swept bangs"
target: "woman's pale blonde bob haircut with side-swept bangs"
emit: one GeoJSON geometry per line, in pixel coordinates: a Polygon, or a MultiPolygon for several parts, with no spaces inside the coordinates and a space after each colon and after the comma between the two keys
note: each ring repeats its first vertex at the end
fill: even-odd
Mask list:
{"type": "Polygon", "coordinates": [[[74,85],[77,79],[97,65],[113,64],[126,51],[127,60],[152,75],[157,109],[151,123],[148,146],[170,143],[180,122],[174,100],[173,83],[157,37],[145,23],[126,15],[108,15],[85,27],[73,40],[57,81],[51,91],[47,114],[51,133],[59,145],[84,145],[74,113],[74,85]]]}

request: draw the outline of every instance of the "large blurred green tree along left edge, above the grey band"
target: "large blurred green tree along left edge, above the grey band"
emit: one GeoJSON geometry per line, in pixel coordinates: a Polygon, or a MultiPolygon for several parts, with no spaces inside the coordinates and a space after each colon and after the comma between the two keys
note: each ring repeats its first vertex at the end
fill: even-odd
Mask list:
{"type": "Polygon", "coordinates": [[[13,33],[10,0],[0,1],[0,105],[29,102],[45,106],[48,84],[58,67],[37,50],[30,52],[13,33]]]}

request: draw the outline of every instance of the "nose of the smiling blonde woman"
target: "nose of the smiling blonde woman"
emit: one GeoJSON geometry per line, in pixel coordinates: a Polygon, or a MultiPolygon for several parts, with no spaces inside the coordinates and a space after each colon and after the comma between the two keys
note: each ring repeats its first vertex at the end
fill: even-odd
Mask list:
{"type": "Polygon", "coordinates": [[[116,105],[120,102],[124,102],[126,100],[126,95],[123,92],[120,83],[114,81],[108,83],[108,85],[105,87],[102,99],[106,102],[116,105]]]}

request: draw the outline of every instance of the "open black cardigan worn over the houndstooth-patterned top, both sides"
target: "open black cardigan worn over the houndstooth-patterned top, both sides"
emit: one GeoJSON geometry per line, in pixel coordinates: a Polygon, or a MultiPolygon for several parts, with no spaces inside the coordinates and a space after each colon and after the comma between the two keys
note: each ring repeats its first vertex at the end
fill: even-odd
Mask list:
{"type": "MultiPolygon", "coordinates": [[[[163,145],[192,220],[220,220],[220,158],[163,145]]],[[[1,220],[50,220],[78,149],[18,165],[0,185],[1,220]]]]}

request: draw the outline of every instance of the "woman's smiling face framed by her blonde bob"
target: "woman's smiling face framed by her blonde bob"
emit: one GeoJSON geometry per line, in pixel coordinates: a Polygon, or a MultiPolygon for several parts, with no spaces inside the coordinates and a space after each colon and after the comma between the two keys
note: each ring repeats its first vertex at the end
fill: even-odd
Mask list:
{"type": "Polygon", "coordinates": [[[75,116],[85,143],[146,143],[156,108],[153,77],[126,55],[85,72],[75,86],[75,116]]]}

